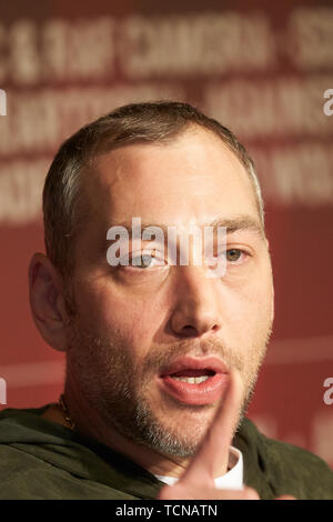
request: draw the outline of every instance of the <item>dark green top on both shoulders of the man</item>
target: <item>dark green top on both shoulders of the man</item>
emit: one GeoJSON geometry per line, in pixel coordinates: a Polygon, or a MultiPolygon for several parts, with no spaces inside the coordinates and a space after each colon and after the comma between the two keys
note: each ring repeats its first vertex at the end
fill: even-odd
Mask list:
{"type": "MultiPolygon", "coordinates": [[[[0,499],[155,499],[153,474],[110,448],[41,414],[0,412],[0,499]]],[[[244,419],[232,445],[244,461],[244,483],[261,499],[291,494],[333,500],[333,471],[313,453],[266,438],[244,419]]]]}

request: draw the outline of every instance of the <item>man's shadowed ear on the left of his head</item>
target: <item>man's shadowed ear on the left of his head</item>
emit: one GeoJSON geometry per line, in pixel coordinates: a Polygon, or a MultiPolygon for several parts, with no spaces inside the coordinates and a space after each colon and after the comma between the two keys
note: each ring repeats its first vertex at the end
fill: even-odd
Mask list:
{"type": "Polygon", "coordinates": [[[63,282],[49,258],[36,253],[29,265],[29,297],[34,323],[44,341],[56,350],[67,349],[69,317],[63,282]]]}

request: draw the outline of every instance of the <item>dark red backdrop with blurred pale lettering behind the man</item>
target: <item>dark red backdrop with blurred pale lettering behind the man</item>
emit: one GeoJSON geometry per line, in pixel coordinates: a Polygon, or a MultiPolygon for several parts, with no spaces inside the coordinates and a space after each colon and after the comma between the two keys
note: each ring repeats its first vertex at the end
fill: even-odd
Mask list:
{"type": "Polygon", "coordinates": [[[324,381],[333,384],[333,103],[324,98],[333,88],[333,7],[269,6],[0,6],[0,408],[51,402],[62,389],[64,359],[39,337],[27,284],[30,257],[43,250],[41,189],[52,154],[114,107],[178,98],[244,141],[266,200],[276,319],[249,414],[266,434],[333,465],[333,392],[324,401],[324,381]]]}

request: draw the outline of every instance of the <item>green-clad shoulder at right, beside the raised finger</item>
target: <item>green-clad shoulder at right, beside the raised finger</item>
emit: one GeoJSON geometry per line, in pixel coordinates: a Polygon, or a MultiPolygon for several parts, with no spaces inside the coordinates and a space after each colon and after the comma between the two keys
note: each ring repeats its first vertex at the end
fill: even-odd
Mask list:
{"type": "Polygon", "coordinates": [[[255,440],[261,466],[274,494],[293,494],[307,500],[333,499],[333,471],[320,456],[265,436],[249,419],[245,430],[255,440]]]}

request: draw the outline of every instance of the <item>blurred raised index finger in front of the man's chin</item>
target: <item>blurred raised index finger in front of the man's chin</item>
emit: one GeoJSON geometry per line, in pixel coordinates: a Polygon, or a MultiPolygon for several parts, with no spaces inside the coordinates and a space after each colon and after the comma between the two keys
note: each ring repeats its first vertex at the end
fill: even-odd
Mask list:
{"type": "Polygon", "coordinates": [[[213,481],[221,470],[228,469],[229,448],[239,421],[243,400],[243,383],[236,370],[229,373],[230,382],[203,442],[181,476],[181,482],[213,481]]]}

